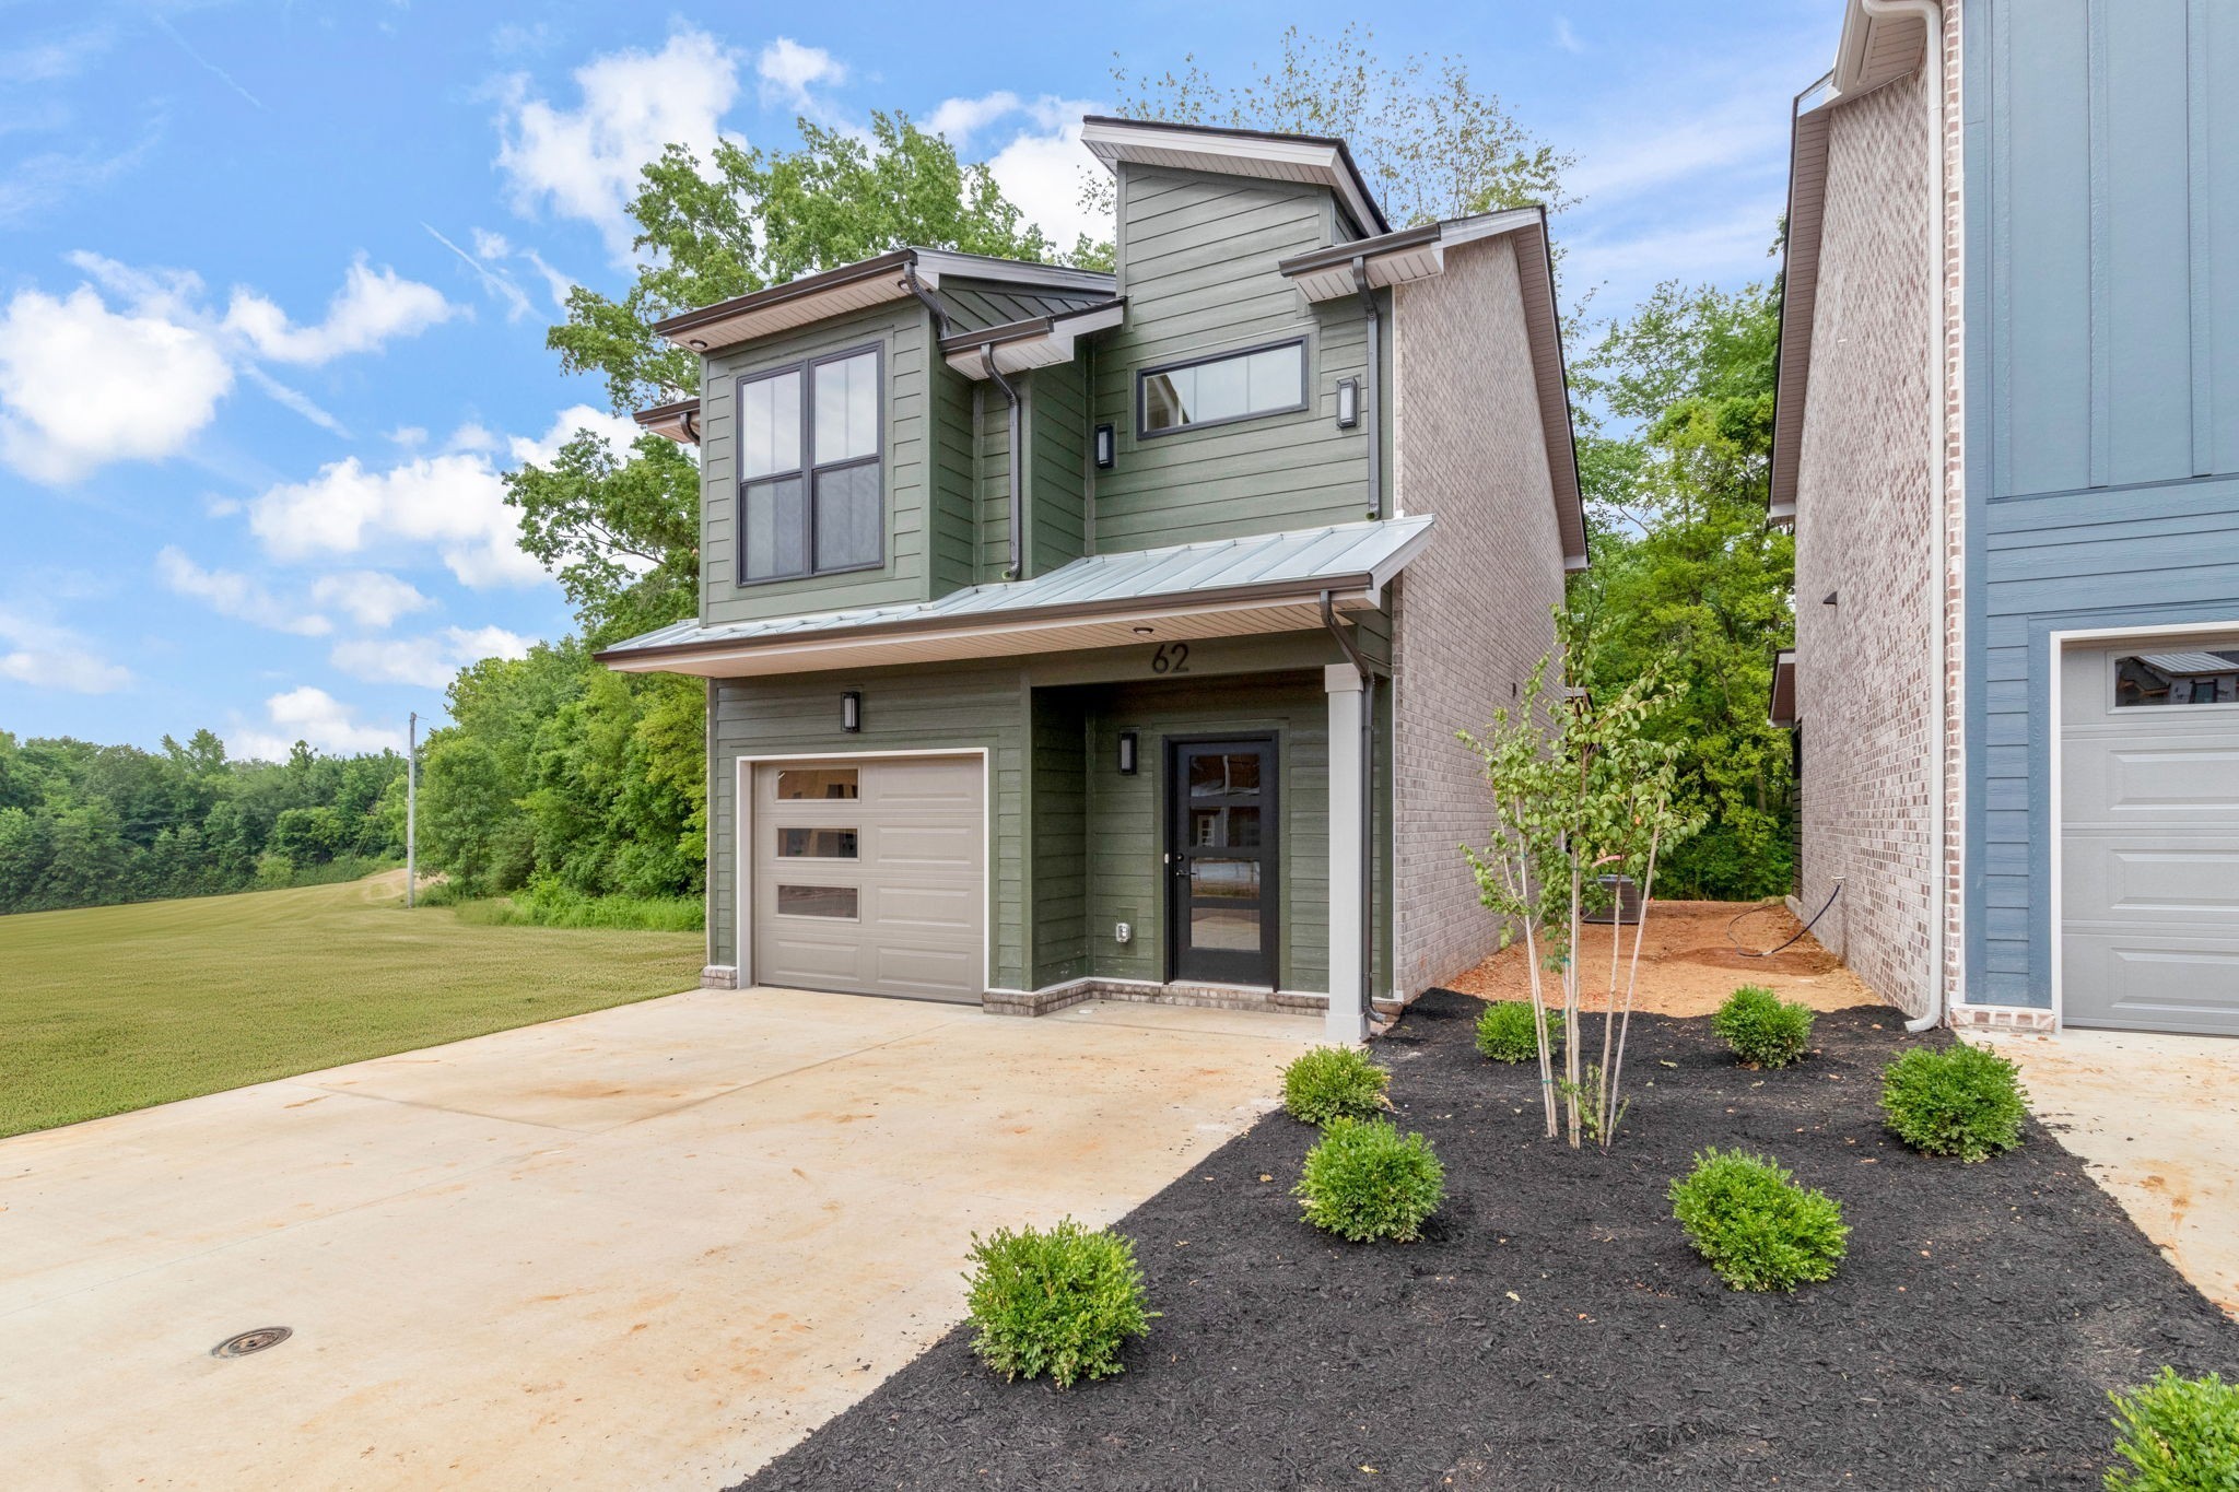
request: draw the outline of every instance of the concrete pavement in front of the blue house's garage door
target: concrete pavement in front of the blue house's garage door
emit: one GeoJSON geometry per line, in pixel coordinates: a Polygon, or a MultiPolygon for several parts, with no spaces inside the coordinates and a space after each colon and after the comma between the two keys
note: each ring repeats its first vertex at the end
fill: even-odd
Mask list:
{"type": "Polygon", "coordinates": [[[2020,1063],[2037,1118],[2239,1318],[2239,1040],[2080,1029],[1968,1040],[2020,1063]]]}

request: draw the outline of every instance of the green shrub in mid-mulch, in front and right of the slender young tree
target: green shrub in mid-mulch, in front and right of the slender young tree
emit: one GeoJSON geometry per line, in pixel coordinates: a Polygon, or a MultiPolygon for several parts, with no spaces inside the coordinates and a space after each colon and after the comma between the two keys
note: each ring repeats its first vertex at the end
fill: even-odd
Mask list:
{"type": "Polygon", "coordinates": [[[1827,1279],[1847,1253],[1843,1203],[1796,1186],[1767,1156],[1704,1150],[1695,1170],[1673,1181],[1670,1201],[1695,1253],[1737,1291],[1827,1279]]]}

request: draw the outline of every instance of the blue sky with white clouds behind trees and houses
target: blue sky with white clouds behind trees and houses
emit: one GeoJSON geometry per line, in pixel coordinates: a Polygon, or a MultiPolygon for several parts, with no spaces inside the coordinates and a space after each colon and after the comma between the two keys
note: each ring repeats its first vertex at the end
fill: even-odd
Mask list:
{"type": "MultiPolygon", "coordinates": [[[[1240,78],[1350,13],[0,0],[0,729],[399,745],[461,660],[564,633],[499,472],[613,427],[544,329],[629,282],[661,141],[907,110],[1070,242],[1115,51],[1240,78]]],[[[1836,0],[1375,16],[1578,157],[1556,237],[1596,313],[1769,273],[1836,0]]]]}

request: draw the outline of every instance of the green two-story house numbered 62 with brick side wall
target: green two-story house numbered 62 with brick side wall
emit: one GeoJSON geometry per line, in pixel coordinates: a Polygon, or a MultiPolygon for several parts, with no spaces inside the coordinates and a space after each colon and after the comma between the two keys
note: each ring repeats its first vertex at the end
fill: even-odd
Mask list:
{"type": "Polygon", "coordinates": [[[1117,271],[934,248],[676,315],[708,973],[1328,1011],[1498,939],[1455,740],[1585,564],[1538,208],[1393,230],[1343,141],[1090,119],[1117,271]]]}

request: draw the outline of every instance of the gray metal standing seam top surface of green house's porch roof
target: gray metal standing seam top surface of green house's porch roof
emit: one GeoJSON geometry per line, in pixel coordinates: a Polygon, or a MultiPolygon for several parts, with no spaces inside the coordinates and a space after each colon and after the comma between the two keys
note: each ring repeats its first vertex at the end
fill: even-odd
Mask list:
{"type": "Polygon", "coordinates": [[[705,649],[739,642],[779,642],[828,633],[938,626],[943,622],[985,624],[1057,608],[1126,608],[1142,602],[1218,599],[1243,588],[1314,591],[1321,582],[1386,577],[1428,539],[1433,514],[1366,523],[1337,523],[1245,539],[1178,544],[1173,548],[1088,555],[1048,575],[1019,582],[965,586],[934,602],[864,606],[819,615],[763,617],[703,626],[672,622],[629,638],[600,658],[629,658],[669,649],[705,649]]]}

